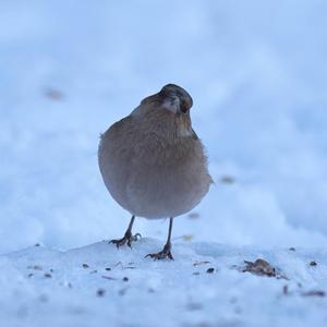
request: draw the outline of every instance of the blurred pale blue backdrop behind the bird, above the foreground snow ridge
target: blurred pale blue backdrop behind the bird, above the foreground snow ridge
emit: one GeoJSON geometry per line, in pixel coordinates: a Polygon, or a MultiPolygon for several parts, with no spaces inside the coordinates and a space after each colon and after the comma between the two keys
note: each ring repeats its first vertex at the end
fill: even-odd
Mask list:
{"type": "MultiPolygon", "coordinates": [[[[327,245],[327,2],[0,1],[0,253],[121,237],[99,133],[167,83],[216,181],[173,239],[327,245]]],[[[166,239],[168,221],[135,231],[166,239]]]]}

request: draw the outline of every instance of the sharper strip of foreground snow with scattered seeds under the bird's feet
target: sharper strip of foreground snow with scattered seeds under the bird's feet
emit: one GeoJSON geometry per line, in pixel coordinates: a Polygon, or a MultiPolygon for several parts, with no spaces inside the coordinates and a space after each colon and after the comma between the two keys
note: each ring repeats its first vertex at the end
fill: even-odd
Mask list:
{"type": "Polygon", "coordinates": [[[324,326],[327,251],[177,243],[175,261],[144,259],[160,242],[107,242],[60,252],[32,246],[1,258],[2,326],[324,326]],[[242,272],[269,261],[288,279],[242,272]],[[317,266],[311,266],[312,259],[317,266]],[[214,272],[207,272],[214,268],[214,272]],[[110,269],[110,270],[109,270],[110,269]],[[47,277],[48,276],[48,277],[47,277]],[[284,293],[284,287],[288,291],[284,293]],[[14,305],[13,305],[14,303],[14,305]],[[55,313],[55,314],[53,314],[55,313]],[[10,317],[10,319],[9,319],[10,317]]]}

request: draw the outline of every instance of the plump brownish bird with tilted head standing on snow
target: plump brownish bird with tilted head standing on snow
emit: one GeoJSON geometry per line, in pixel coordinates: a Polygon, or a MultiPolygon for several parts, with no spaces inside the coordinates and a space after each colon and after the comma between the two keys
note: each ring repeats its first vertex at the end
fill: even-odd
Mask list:
{"type": "Polygon", "coordinates": [[[169,218],[162,251],[145,257],[173,259],[173,219],[192,210],[213,184],[206,150],[192,128],[192,106],[184,88],[167,84],[100,135],[98,165],[104,183],[132,215],[124,237],[109,242],[117,247],[132,247],[141,237],[132,233],[135,217],[169,218]]]}

